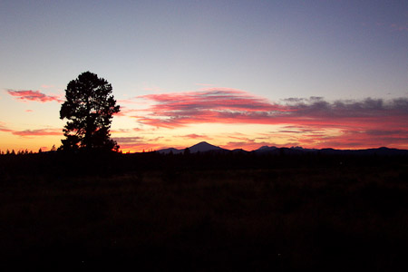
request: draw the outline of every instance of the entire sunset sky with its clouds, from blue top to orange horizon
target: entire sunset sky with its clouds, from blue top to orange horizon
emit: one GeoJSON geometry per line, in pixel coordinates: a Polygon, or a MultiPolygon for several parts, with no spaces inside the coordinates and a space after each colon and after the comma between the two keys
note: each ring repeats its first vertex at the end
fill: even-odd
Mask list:
{"type": "Polygon", "coordinates": [[[408,149],[407,1],[0,1],[0,151],[61,145],[112,84],[121,151],[408,149]]]}

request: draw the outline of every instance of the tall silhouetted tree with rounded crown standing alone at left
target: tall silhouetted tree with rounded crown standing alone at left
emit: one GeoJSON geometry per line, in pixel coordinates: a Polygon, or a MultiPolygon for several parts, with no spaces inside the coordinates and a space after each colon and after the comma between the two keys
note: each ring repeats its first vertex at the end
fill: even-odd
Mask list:
{"type": "Polygon", "coordinates": [[[112,115],[120,112],[111,94],[112,85],[95,73],[81,73],[68,83],[60,111],[60,118],[68,119],[62,150],[119,150],[110,139],[112,115]]]}

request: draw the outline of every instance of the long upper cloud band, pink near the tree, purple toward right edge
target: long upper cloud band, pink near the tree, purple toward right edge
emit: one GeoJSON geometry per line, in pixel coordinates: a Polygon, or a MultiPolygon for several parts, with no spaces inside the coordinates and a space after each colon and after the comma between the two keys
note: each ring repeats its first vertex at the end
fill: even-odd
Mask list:
{"type": "Polygon", "coordinates": [[[202,122],[337,126],[362,121],[395,121],[405,124],[408,121],[407,98],[327,102],[322,97],[311,97],[291,98],[278,103],[231,89],[149,94],[141,97],[154,104],[148,109],[151,113],[138,116],[139,120],[165,128],[202,122]]]}

